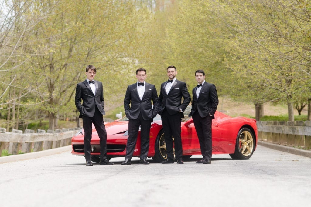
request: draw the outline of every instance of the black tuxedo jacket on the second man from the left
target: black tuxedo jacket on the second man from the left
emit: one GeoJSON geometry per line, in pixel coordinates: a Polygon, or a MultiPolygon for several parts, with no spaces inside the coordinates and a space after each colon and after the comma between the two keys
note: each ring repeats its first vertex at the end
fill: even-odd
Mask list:
{"type": "Polygon", "coordinates": [[[157,114],[158,107],[158,94],[154,85],[146,83],[142,100],[140,100],[137,92],[137,82],[129,85],[126,89],[124,112],[129,119],[137,119],[139,113],[142,113],[142,118],[144,120],[153,119],[157,114]],[[153,108],[151,100],[153,102],[153,108]]]}

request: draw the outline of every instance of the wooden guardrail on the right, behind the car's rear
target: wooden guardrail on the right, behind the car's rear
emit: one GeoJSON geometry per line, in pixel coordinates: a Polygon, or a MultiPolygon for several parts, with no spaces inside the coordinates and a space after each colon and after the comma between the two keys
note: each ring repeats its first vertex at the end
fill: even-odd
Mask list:
{"type": "Polygon", "coordinates": [[[311,147],[311,121],[258,121],[258,140],[311,147]]]}

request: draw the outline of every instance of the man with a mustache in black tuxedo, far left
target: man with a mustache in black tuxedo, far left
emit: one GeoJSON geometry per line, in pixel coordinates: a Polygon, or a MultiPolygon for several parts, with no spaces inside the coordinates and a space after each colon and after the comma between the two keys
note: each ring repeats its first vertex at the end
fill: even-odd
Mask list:
{"type": "Polygon", "coordinates": [[[103,84],[94,80],[96,68],[93,65],[86,67],[86,80],[76,87],[76,107],[82,117],[84,129],[84,154],[86,166],[93,166],[91,162],[92,123],[100,138],[100,165],[112,165],[107,159],[107,132],[104,124],[104,92],[103,84]],[[81,104],[81,99],[83,103],[81,104]]]}

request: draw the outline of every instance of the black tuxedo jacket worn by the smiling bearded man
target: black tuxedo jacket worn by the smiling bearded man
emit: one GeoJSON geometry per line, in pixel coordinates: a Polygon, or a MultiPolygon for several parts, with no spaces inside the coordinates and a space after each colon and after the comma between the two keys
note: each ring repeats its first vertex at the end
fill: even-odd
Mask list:
{"type": "MultiPolygon", "coordinates": [[[[179,108],[185,110],[191,101],[190,94],[185,82],[175,80],[170,89],[169,93],[166,94],[165,85],[167,81],[161,84],[161,90],[159,95],[160,108],[158,114],[162,114],[163,110],[166,108],[170,115],[179,113],[179,108]],[[181,98],[183,97],[183,103],[181,103],[181,98]]],[[[181,118],[183,118],[183,112],[181,113],[181,118]]]]}

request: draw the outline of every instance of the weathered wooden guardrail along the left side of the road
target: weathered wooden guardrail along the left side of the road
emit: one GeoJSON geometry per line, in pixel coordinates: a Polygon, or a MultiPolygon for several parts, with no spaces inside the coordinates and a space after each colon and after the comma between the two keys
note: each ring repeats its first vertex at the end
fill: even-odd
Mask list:
{"type": "Polygon", "coordinates": [[[61,146],[71,145],[71,138],[80,128],[63,128],[45,130],[26,129],[25,133],[21,130],[13,129],[12,132],[6,132],[5,128],[0,128],[0,156],[2,150],[8,150],[8,154],[16,155],[19,152],[29,153],[42,150],[48,150],[61,146]]]}

